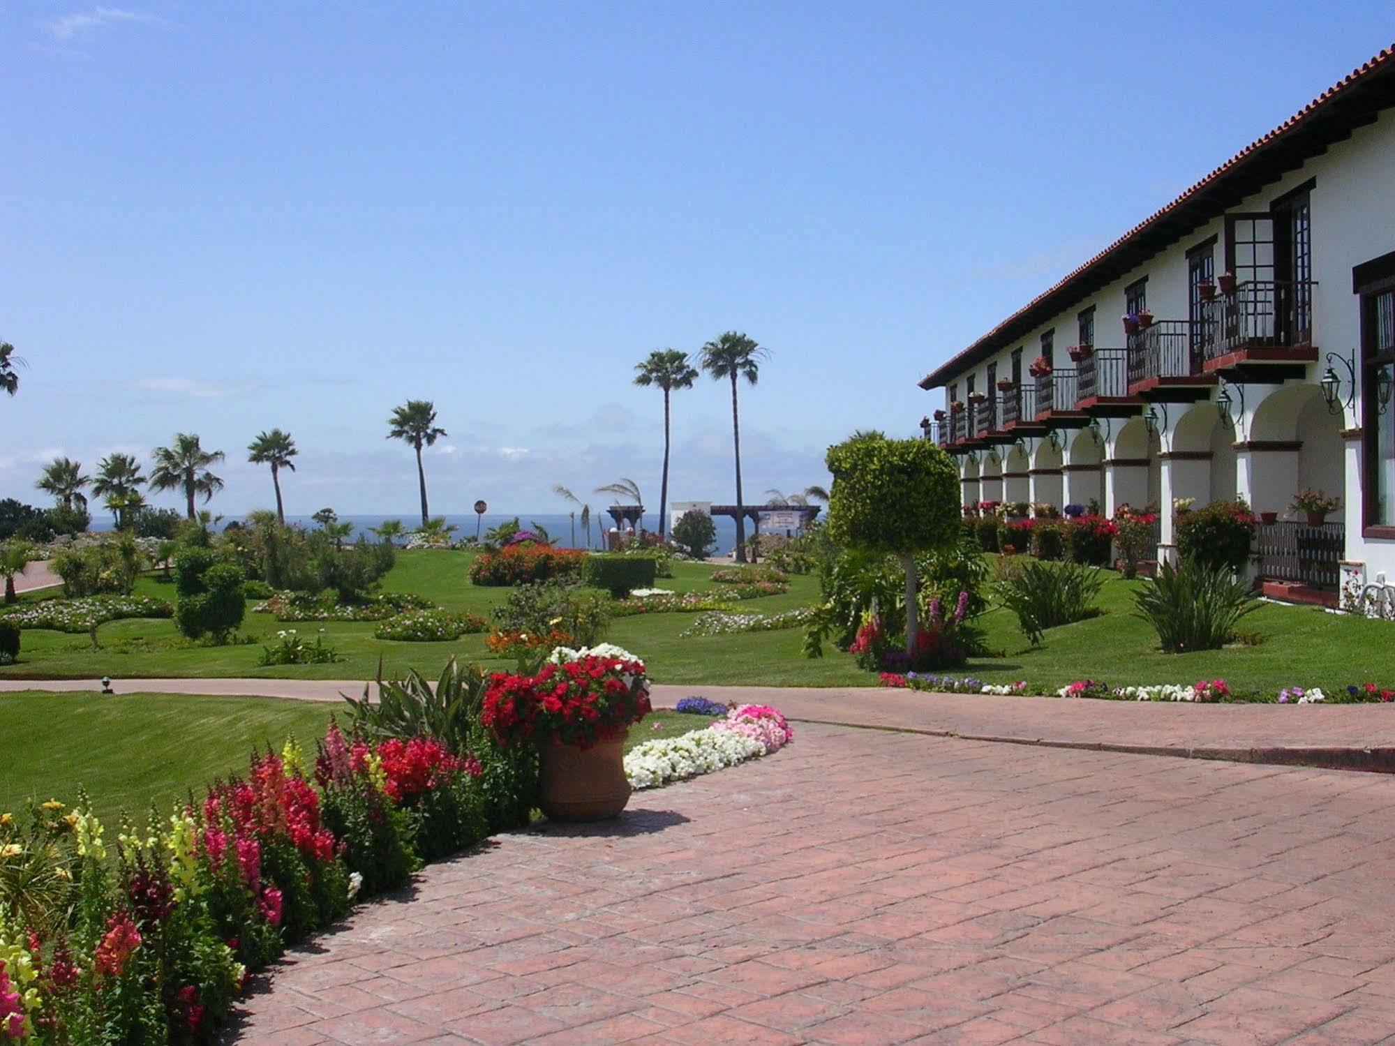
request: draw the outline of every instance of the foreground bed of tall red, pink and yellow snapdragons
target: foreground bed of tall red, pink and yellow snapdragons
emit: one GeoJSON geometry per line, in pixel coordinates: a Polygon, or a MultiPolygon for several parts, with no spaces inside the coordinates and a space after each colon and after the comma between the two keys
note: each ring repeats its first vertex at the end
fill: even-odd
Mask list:
{"type": "Polygon", "coordinates": [[[331,725],[312,767],[290,741],[114,842],[85,798],[0,816],[0,1038],[215,1040],[250,969],[516,826],[499,812],[519,796],[494,795],[512,778],[488,778],[481,743],[483,766],[432,738],[331,725]]]}

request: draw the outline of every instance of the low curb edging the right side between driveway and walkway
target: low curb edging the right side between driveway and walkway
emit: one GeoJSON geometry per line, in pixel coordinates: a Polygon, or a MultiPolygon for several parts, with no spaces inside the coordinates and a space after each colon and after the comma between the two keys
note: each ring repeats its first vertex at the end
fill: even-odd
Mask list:
{"type": "Polygon", "coordinates": [[[1339,745],[1272,745],[1262,748],[1223,748],[1183,745],[1123,745],[1108,741],[1052,741],[1050,738],[1014,738],[999,734],[960,734],[953,729],[928,727],[880,727],[866,722],[813,720],[791,715],[791,722],[815,722],[823,727],[851,729],[883,729],[893,734],[923,734],[930,738],[983,741],[992,745],[1030,745],[1034,748],[1069,748],[1081,752],[1117,752],[1129,756],[1169,756],[1172,759],[1211,759],[1223,763],[1257,763],[1265,766],[1302,766],[1315,770],[1357,770],[1371,774],[1395,774],[1395,748],[1342,748],[1339,745]]]}

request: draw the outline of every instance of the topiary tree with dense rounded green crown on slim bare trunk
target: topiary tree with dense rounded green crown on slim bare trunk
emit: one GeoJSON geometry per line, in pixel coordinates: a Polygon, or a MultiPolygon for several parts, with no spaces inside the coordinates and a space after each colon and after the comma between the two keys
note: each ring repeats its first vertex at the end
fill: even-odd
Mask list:
{"type": "Polygon", "coordinates": [[[869,552],[890,552],[905,569],[905,649],[915,649],[915,554],[960,534],[958,470],[926,439],[855,434],[829,448],[833,491],[829,536],[869,552]]]}

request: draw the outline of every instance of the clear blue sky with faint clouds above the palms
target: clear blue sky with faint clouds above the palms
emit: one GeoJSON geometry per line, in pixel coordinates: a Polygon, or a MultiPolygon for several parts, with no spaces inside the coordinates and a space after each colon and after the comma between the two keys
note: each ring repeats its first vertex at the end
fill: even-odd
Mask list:
{"type": "MultiPolygon", "coordinates": [[[[1391,3],[0,1],[0,497],[39,464],[290,430],[287,510],[657,505],[649,350],[769,346],[746,497],[1395,40],[1391,3]]],[[[730,399],[671,497],[728,499],[730,399]]],[[[166,501],[167,498],[160,498],[166,501]]],[[[173,499],[167,499],[174,503],[173,499]]]]}

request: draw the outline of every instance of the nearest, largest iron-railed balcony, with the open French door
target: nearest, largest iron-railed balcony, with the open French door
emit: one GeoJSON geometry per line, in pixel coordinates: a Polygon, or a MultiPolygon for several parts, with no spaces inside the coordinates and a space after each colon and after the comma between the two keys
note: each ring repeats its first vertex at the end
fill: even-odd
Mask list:
{"type": "Polygon", "coordinates": [[[1313,347],[1313,282],[1250,280],[1201,303],[1201,368],[1235,381],[1302,378],[1313,347]]]}

